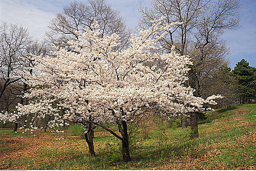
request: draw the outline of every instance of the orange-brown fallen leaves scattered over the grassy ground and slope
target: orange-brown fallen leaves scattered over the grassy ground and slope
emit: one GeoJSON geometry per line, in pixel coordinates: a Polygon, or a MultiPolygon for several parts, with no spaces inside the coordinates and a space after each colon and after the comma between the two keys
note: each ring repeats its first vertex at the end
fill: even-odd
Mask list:
{"type": "MultiPolygon", "coordinates": [[[[170,154],[170,156],[164,158],[156,158],[152,163],[143,163],[143,161],[132,161],[127,169],[131,167],[136,169],[142,167],[142,169],[156,169],[156,170],[255,170],[255,156],[249,153],[243,153],[241,149],[248,148],[248,146],[256,147],[256,130],[252,127],[254,123],[246,119],[246,108],[241,108],[235,110],[233,115],[228,118],[222,118],[213,122],[210,126],[199,127],[199,135],[201,137],[216,135],[215,138],[210,139],[210,141],[199,143],[197,148],[191,150],[187,154],[170,154]],[[237,129],[238,131],[246,129],[246,133],[242,135],[230,134],[232,130],[237,129]],[[226,137],[227,141],[222,141],[222,135],[228,134],[226,137]],[[200,150],[200,152],[199,152],[200,150]],[[244,163],[252,164],[242,164],[242,162],[237,161],[237,155],[242,155],[241,160],[244,163]],[[241,152],[242,151],[242,152],[241,152]],[[229,163],[222,161],[221,156],[227,155],[230,158],[229,163]]],[[[154,130],[155,131],[155,130],[154,130]]],[[[154,132],[153,128],[151,132],[154,132]]],[[[169,145],[176,144],[178,141],[182,141],[184,135],[178,134],[179,137],[170,138],[167,143],[169,145]]],[[[10,136],[0,136],[0,169],[33,169],[40,168],[44,163],[58,163],[56,168],[45,168],[45,169],[63,169],[61,162],[62,160],[78,161],[79,157],[87,154],[87,144],[85,139],[80,136],[66,136],[64,140],[56,140],[56,133],[46,133],[41,134],[40,138],[35,137],[10,137],[10,136]],[[57,150],[59,156],[56,157],[55,151],[57,150]],[[49,151],[52,151],[49,153],[49,151]],[[46,154],[47,155],[44,155],[46,154]],[[51,155],[50,155],[51,154],[51,155]],[[15,162],[14,162],[15,159],[15,162]],[[20,159],[20,163],[18,163],[20,159]],[[25,161],[29,159],[29,163],[25,161]],[[13,161],[13,162],[12,162],[13,161]]],[[[60,134],[59,136],[62,136],[60,134]]],[[[108,138],[109,133],[98,131],[95,132],[95,151],[107,149],[109,146],[114,146],[115,141],[99,141],[102,137],[108,138]],[[107,143],[109,145],[107,145],[107,143]]],[[[146,139],[143,141],[144,147],[149,147],[156,149],[158,148],[157,140],[146,139]]],[[[179,142],[180,143],[180,142],[179,142]]],[[[141,152],[146,153],[148,149],[140,148],[141,152]]],[[[182,151],[183,149],[181,149],[182,151]]],[[[251,151],[253,152],[253,151],[251,151]]],[[[254,153],[253,153],[254,154],[254,153]]],[[[147,155],[146,155],[147,156],[147,155]]],[[[148,155],[148,157],[150,157],[148,155]]],[[[240,159],[239,159],[240,160],[240,159]]],[[[93,166],[91,166],[93,167],[93,166]]],[[[76,167],[74,169],[91,169],[85,163],[83,166],[76,167]]],[[[118,166],[114,166],[118,169],[118,166]]],[[[112,168],[112,169],[114,169],[112,168]]],[[[65,169],[65,168],[64,168],[65,169]]],[[[95,168],[97,169],[97,168],[95,168]]]]}

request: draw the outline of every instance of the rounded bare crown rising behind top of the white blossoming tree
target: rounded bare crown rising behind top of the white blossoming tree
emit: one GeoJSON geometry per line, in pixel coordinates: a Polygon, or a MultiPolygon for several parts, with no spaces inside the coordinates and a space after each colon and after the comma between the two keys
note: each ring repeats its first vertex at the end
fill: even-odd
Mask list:
{"type": "Polygon", "coordinates": [[[121,39],[118,48],[128,45],[130,31],[127,30],[119,12],[104,0],[88,0],[87,3],[72,1],[51,20],[45,42],[66,46],[71,36],[78,38],[77,31],[83,33],[84,28],[92,30],[94,21],[98,22],[102,37],[116,33],[121,39]]]}

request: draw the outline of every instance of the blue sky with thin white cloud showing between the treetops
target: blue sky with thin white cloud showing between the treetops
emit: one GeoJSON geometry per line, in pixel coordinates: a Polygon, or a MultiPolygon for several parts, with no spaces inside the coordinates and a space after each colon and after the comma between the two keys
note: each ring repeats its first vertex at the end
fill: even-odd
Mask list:
{"type": "MultiPolygon", "coordinates": [[[[47,26],[57,12],[61,12],[72,0],[0,0],[0,22],[18,23],[31,35],[42,39],[47,26]]],[[[130,28],[140,20],[140,5],[150,7],[150,0],[106,0],[120,11],[130,28]]],[[[222,38],[230,48],[229,61],[233,69],[242,59],[256,66],[256,0],[241,0],[240,28],[227,31],[222,38]]]]}

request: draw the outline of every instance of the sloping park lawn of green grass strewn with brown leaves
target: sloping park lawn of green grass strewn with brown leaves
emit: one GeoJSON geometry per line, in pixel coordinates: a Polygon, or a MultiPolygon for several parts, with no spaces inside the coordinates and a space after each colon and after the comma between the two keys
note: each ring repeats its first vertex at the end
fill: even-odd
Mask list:
{"type": "Polygon", "coordinates": [[[131,162],[122,162],[120,141],[101,128],[95,131],[95,158],[88,156],[85,139],[68,131],[29,136],[24,130],[0,128],[0,169],[256,170],[256,104],[221,108],[206,116],[194,140],[189,128],[159,120],[148,124],[145,139],[142,129],[132,127],[131,162]]]}

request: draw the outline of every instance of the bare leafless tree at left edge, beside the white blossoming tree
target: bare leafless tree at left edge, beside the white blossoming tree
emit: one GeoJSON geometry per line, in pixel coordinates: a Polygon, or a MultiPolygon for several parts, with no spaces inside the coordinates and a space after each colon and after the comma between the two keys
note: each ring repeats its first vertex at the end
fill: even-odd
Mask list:
{"type": "MultiPolygon", "coordinates": [[[[34,40],[28,29],[18,24],[0,25],[0,103],[1,110],[9,112],[18,103],[23,104],[21,97],[28,86],[17,70],[31,66],[32,61],[28,54],[45,54],[46,49],[42,43],[34,40]]],[[[32,71],[30,71],[32,73],[32,71]]],[[[18,121],[15,122],[14,131],[17,131],[18,121]]]]}

